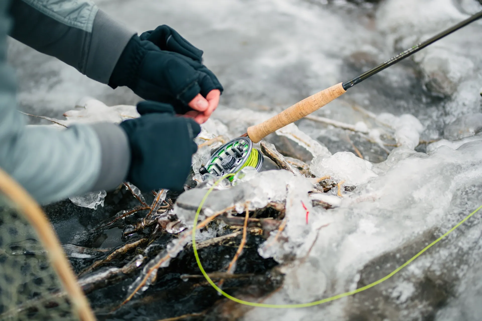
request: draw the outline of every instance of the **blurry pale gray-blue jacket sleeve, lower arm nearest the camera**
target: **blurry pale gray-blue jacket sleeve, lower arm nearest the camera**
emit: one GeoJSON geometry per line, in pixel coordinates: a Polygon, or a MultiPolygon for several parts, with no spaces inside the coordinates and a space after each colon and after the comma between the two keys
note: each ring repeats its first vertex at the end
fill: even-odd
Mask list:
{"type": "MultiPolygon", "coordinates": [[[[27,127],[23,115],[16,111],[14,73],[6,64],[11,25],[8,5],[8,1],[0,1],[0,167],[42,204],[115,188],[126,177],[130,164],[127,137],[119,126],[27,127]]],[[[73,16],[68,20],[88,25],[80,12],[71,11],[73,16]]]]}

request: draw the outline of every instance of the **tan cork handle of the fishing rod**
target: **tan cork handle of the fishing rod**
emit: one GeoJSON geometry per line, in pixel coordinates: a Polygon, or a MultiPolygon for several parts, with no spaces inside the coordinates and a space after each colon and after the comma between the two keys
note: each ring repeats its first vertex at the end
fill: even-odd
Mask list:
{"type": "Polygon", "coordinates": [[[320,109],[335,98],[343,95],[345,92],[347,91],[343,89],[341,82],[335,86],[321,90],[320,92],[303,99],[301,102],[295,103],[293,106],[286,108],[280,114],[265,120],[261,124],[249,127],[248,137],[253,142],[259,142],[272,132],[294,123],[296,120],[320,109]]]}

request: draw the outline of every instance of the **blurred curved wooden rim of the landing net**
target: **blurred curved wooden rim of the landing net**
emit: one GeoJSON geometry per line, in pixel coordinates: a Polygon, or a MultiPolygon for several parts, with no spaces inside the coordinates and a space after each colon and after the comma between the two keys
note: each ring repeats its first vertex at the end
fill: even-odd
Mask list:
{"type": "Polygon", "coordinates": [[[94,313],[87,298],[80,289],[67,257],[56,237],[54,228],[46,218],[40,206],[33,198],[10,176],[0,169],[0,191],[11,199],[19,211],[27,218],[37,232],[41,243],[47,249],[52,267],[60,282],[71,298],[71,304],[81,321],[94,321],[94,313]]]}

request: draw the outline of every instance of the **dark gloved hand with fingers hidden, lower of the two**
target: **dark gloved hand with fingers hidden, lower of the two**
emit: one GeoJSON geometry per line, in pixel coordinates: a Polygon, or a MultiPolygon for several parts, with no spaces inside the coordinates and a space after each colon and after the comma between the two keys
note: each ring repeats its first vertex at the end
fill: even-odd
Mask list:
{"type": "Polygon", "coordinates": [[[193,139],[201,127],[190,118],[175,116],[166,103],[141,102],[137,111],[139,118],[120,123],[132,154],[127,180],[141,191],[183,191],[192,154],[198,149],[193,139]]]}

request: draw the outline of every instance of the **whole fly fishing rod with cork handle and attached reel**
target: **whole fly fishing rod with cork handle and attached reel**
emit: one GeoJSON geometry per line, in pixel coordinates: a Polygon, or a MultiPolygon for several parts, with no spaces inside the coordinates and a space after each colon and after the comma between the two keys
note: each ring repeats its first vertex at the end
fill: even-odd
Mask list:
{"type": "Polygon", "coordinates": [[[347,82],[336,84],[325,90],[321,90],[316,94],[305,98],[301,102],[295,103],[293,106],[288,107],[276,116],[269,118],[268,120],[251,126],[248,128],[247,133],[241,137],[221,146],[208,161],[205,167],[201,167],[201,174],[214,174],[215,176],[223,176],[229,173],[236,173],[243,167],[251,166],[258,171],[263,164],[263,157],[261,152],[253,148],[253,142],[257,143],[264,137],[275,132],[276,130],[285,127],[295,121],[317,111],[327,103],[335,100],[343,95],[347,90],[363,80],[372,77],[380,71],[388,68],[389,66],[398,63],[399,61],[407,58],[434,43],[435,41],[442,39],[445,36],[450,35],[454,31],[469,25],[470,23],[480,19],[482,17],[482,11],[469,17],[468,19],[452,26],[441,33],[433,36],[432,38],[425,40],[410,49],[399,53],[393,58],[388,59],[382,64],[377,65],[375,68],[364,72],[362,75],[355,77],[347,82]]]}

